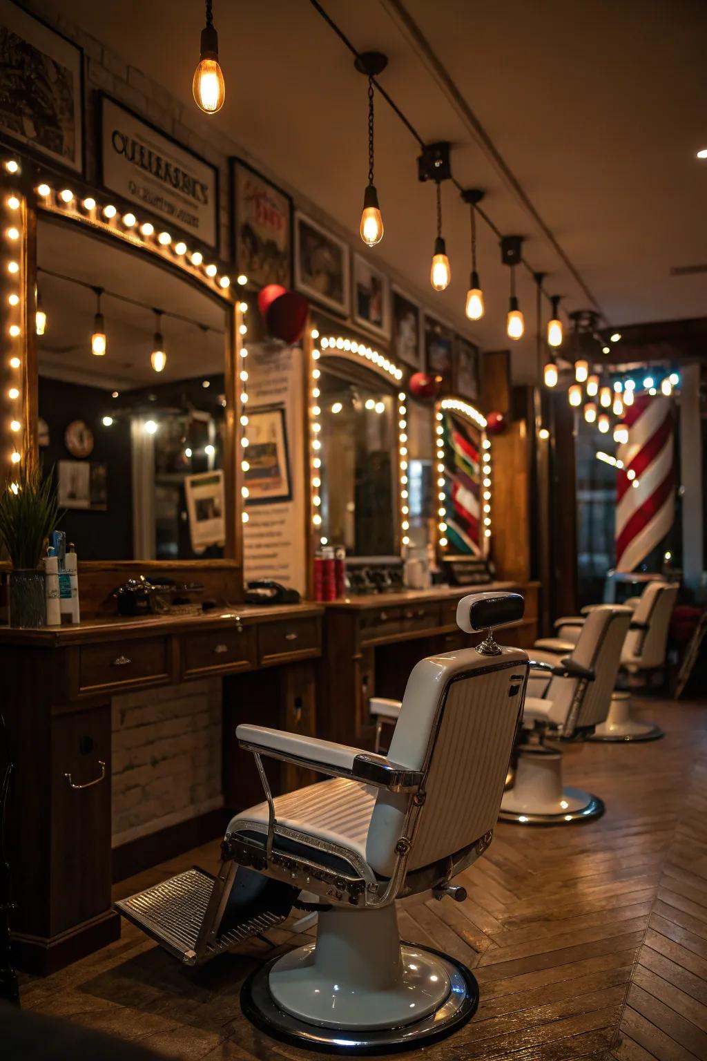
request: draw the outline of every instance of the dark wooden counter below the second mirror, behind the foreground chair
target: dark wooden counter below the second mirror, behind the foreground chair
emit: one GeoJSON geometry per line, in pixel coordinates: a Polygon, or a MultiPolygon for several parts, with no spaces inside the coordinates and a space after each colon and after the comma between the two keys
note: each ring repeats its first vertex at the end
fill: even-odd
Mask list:
{"type": "Polygon", "coordinates": [[[530,647],[537,637],[538,582],[437,586],[328,602],[318,699],[318,733],[369,747],[371,696],[402,697],[408,675],[425,656],[474,645],[480,637],[457,626],[457,604],[467,593],[512,590],[526,601],[523,620],[499,631],[501,644],[530,647]]]}

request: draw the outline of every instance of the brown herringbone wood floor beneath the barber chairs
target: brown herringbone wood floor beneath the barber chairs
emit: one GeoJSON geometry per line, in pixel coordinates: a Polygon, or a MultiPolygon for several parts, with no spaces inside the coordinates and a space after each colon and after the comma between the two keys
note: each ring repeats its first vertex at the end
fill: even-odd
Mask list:
{"type": "MultiPolygon", "coordinates": [[[[643,717],[664,726],[664,741],[567,749],[567,781],[606,802],[600,821],[500,824],[458,879],[464,903],[401,907],[403,936],[460,958],[481,992],[475,1019],[429,1047],[430,1061],[707,1058],[707,707],[653,701],[643,717]]],[[[120,893],[216,858],[214,842],[120,893]]],[[[270,936],[283,949],[308,938],[270,936]]],[[[124,924],[104,951],[25,980],[22,1003],[170,1058],[300,1061],[311,1055],[271,1042],[240,1011],[241,982],[265,954],[255,941],[188,971],[124,924]]]]}

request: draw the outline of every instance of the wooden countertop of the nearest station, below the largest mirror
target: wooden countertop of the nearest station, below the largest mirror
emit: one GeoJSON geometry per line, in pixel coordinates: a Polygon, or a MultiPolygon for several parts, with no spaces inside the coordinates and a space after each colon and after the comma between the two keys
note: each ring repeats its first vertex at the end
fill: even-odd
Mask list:
{"type": "Polygon", "coordinates": [[[122,636],[146,633],[197,632],[230,623],[268,622],[270,620],[307,619],[321,615],[322,605],[314,602],[281,605],[224,605],[199,615],[107,615],[83,620],[71,626],[43,626],[38,629],[0,626],[0,646],[69,645],[83,641],[108,640],[122,636]]]}

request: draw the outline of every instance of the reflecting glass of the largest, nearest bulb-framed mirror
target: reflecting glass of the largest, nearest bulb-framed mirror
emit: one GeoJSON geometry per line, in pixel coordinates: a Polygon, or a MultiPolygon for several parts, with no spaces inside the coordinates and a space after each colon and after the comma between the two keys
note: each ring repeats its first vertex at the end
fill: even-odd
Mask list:
{"type": "Polygon", "coordinates": [[[37,263],[39,452],[67,540],[83,560],[224,556],[227,307],[53,219],[37,263]]]}

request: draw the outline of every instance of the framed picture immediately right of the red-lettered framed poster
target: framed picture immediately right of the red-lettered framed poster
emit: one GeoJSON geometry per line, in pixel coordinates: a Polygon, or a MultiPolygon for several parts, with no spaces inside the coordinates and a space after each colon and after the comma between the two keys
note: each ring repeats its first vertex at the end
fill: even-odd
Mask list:
{"type": "Polygon", "coordinates": [[[295,286],[348,316],[349,246],[299,210],[295,214],[295,286]]]}

